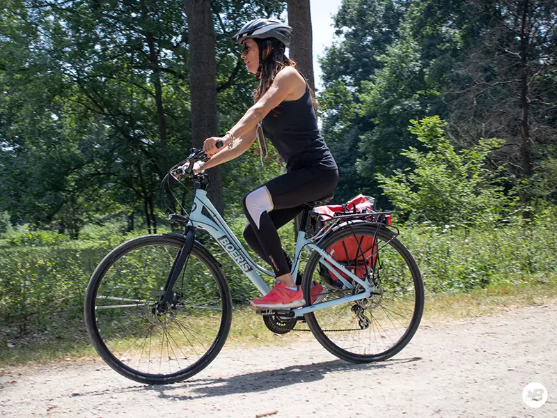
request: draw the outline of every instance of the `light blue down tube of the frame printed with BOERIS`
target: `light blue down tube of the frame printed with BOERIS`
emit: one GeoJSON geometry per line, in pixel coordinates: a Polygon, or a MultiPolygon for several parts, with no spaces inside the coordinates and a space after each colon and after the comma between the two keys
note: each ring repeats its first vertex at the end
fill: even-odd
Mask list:
{"type": "Polygon", "coordinates": [[[207,199],[207,192],[205,192],[205,190],[197,190],[196,200],[198,204],[194,210],[191,211],[189,217],[191,224],[209,232],[213,238],[219,242],[219,245],[223,247],[228,256],[240,267],[240,270],[242,270],[256,288],[258,288],[258,291],[260,291],[262,295],[267,295],[270,291],[269,286],[263,281],[258,270],[271,277],[274,277],[274,273],[261,268],[253,261],[249,254],[247,254],[246,249],[240,244],[240,241],[237,240],[234,233],[230,231],[226,223],[220,217],[219,212],[217,212],[209,199],[207,199]],[[221,225],[217,224],[214,219],[203,215],[201,212],[203,207],[205,207],[207,212],[209,212],[214,219],[217,219],[221,225]]]}

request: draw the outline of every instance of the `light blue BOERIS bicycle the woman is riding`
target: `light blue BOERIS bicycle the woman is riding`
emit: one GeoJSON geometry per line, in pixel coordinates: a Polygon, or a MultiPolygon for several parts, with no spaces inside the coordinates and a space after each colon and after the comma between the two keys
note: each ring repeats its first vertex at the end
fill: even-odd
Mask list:
{"type": "MultiPolygon", "coordinates": [[[[193,167],[201,160],[205,154],[194,149],[185,162],[193,167]]],[[[171,169],[166,184],[183,163],[171,169]]],[[[269,292],[262,276],[274,277],[253,261],[212,205],[206,192],[209,176],[185,174],[196,185],[189,216],[169,217],[185,232],[124,242],[103,258],[86,291],[84,313],[93,345],[109,366],[138,382],[164,384],[194,376],[212,362],[228,336],[230,288],[196,233],[211,235],[262,295],[269,292]]],[[[389,212],[343,213],[321,224],[311,217],[311,208],[324,203],[304,207],[292,263],[292,277],[297,277],[303,250],[309,252],[301,279],[306,305],[258,314],[277,334],[307,326],[324,348],[349,362],[388,359],[409,343],[421,320],[418,266],[396,238],[398,229],[386,222],[389,212]],[[313,235],[308,229],[315,229],[313,235]],[[322,291],[312,295],[316,284],[322,291]]]]}

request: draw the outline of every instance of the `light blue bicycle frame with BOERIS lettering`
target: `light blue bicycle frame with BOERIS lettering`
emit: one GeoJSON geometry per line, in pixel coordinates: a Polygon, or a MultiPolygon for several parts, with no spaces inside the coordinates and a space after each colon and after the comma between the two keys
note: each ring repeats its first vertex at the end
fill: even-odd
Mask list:
{"type": "MultiPolygon", "coordinates": [[[[266,274],[269,277],[275,277],[274,272],[262,268],[258,265],[253,258],[249,256],[246,249],[242,246],[240,241],[236,238],[234,233],[230,230],[224,219],[222,219],[221,215],[217,211],[216,208],[212,205],[210,199],[207,196],[207,191],[203,189],[197,189],[196,194],[194,196],[194,204],[191,207],[191,212],[189,216],[188,226],[193,226],[197,229],[203,229],[207,231],[212,237],[219,242],[219,245],[223,247],[226,251],[228,256],[233,259],[233,261],[240,267],[240,270],[244,272],[244,274],[250,279],[250,281],[258,288],[262,295],[266,295],[269,293],[270,289],[269,286],[265,283],[262,279],[261,274],[266,274]],[[207,212],[207,215],[203,213],[203,209],[207,212]]],[[[332,272],[335,272],[340,280],[343,281],[343,284],[347,288],[352,288],[352,285],[349,281],[343,278],[342,272],[345,276],[350,277],[354,282],[360,284],[364,291],[362,293],[358,293],[357,295],[346,296],[346,297],[339,297],[336,300],[330,300],[328,302],[321,302],[316,305],[312,305],[310,307],[301,307],[297,309],[292,309],[295,313],[296,317],[304,316],[304,314],[308,314],[309,312],[317,311],[319,309],[327,309],[334,307],[338,304],[343,304],[346,302],[354,302],[356,300],[361,300],[366,297],[369,297],[371,293],[374,291],[374,288],[371,284],[367,281],[363,281],[356,274],[346,270],[343,265],[338,263],[331,254],[328,254],[327,251],[321,249],[312,240],[308,240],[306,238],[305,231],[299,231],[297,240],[296,240],[296,249],[295,249],[295,261],[292,263],[292,277],[296,277],[299,263],[300,263],[300,255],[302,249],[308,249],[309,251],[317,251],[320,256],[322,256],[322,260],[320,262],[332,272]]]]}

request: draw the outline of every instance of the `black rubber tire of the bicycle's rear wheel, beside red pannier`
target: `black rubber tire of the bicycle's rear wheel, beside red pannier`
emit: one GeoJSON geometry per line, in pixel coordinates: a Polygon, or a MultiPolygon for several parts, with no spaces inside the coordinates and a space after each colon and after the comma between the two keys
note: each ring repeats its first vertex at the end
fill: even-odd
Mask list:
{"type": "MultiPolygon", "coordinates": [[[[394,346],[391,346],[388,350],[385,350],[382,353],[373,354],[373,355],[361,355],[356,353],[350,353],[343,348],[337,346],[329,337],[322,331],[319,323],[317,322],[317,318],[315,318],[315,314],[310,312],[309,314],[304,315],[306,319],[306,323],[308,324],[309,329],[311,330],[315,339],[319,341],[319,343],[332,355],[336,357],[346,360],[347,362],[352,363],[370,363],[370,362],[380,362],[386,359],[393,357],[397,353],[405,348],[407,344],[411,341],[418,330],[418,327],[421,322],[421,318],[423,315],[423,308],[424,308],[424,288],[423,288],[423,281],[421,278],[421,273],[418,268],[418,264],[414,260],[414,257],[410,254],[410,251],[402,245],[402,243],[394,237],[392,231],[388,229],[377,226],[377,224],[370,224],[370,223],[363,223],[363,224],[356,224],[352,226],[352,231],[356,235],[359,233],[363,233],[366,231],[373,235],[377,233],[377,238],[380,238],[385,241],[389,241],[389,245],[393,245],[393,247],[398,251],[400,256],[405,260],[407,263],[409,270],[411,271],[412,278],[414,279],[414,288],[416,289],[416,302],[414,304],[414,313],[412,315],[411,323],[405,332],[404,336],[395,343],[394,346]]],[[[324,238],[322,242],[320,242],[321,248],[329,248],[334,242],[337,240],[347,238],[347,236],[352,235],[352,231],[349,228],[340,228],[337,231],[331,232],[331,234],[324,238]]],[[[304,271],[304,277],[302,279],[302,289],[304,290],[304,295],[311,294],[311,282],[313,277],[313,271],[317,268],[317,263],[319,262],[320,255],[317,254],[316,251],[313,251],[311,254],[308,263],[306,264],[306,269],[304,271]]],[[[309,297],[306,296],[306,306],[310,306],[311,301],[309,297]]]]}

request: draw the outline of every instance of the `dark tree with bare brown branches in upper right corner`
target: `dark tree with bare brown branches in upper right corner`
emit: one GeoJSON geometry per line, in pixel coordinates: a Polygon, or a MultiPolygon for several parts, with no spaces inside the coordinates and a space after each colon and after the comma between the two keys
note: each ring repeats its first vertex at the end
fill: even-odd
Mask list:
{"type": "MultiPolygon", "coordinates": [[[[557,12],[554,1],[416,3],[409,22],[427,47],[428,79],[443,95],[455,144],[505,139],[494,162],[513,184],[555,157],[557,12]]],[[[523,203],[533,189],[523,187],[523,203]]]]}

